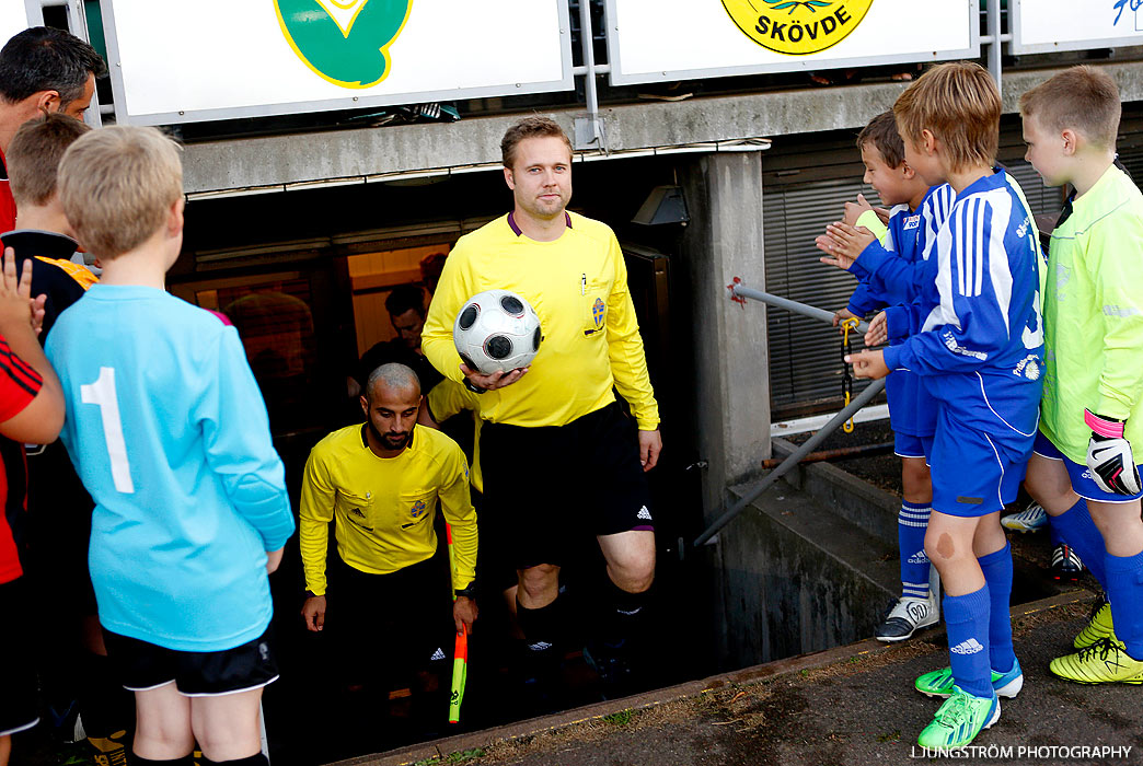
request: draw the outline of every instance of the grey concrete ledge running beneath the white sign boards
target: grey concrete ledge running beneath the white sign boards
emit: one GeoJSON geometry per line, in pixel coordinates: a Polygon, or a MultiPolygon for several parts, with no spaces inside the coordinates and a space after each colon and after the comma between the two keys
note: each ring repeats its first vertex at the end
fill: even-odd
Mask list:
{"type": "MultiPolygon", "coordinates": [[[[1125,102],[1143,99],[1143,63],[1101,64],[1119,83],[1125,102]]],[[[1006,112],[1028,88],[1056,70],[1006,73],[1006,112]]],[[[677,103],[602,109],[612,151],[777,137],[861,127],[893,105],[904,85],[881,82],[844,88],[692,98],[677,103]]],[[[554,112],[573,134],[583,109],[554,112]]],[[[465,119],[450,125],[384,128],[211,141],[191,144],[184,155],[190,193],[274,186],[386,173],[499,161],[499,138],[519,115],[465,119]]]]}

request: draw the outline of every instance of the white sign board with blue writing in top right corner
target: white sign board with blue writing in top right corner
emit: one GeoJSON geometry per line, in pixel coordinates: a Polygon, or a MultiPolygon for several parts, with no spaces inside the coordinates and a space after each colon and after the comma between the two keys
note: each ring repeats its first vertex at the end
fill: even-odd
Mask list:
{"type": "Polygon", "coordinates": [[[1140,0],[1010,0],[1012,53],[1143,45],[1140,0]]]}

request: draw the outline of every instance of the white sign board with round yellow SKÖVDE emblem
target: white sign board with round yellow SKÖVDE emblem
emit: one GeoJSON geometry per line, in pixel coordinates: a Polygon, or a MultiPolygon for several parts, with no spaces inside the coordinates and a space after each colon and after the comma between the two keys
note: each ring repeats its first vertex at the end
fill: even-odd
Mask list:
{"type": "Polygon", "coordinates": [[[980,55],[980,0],[607,0],[612,82],[980,55]]]}

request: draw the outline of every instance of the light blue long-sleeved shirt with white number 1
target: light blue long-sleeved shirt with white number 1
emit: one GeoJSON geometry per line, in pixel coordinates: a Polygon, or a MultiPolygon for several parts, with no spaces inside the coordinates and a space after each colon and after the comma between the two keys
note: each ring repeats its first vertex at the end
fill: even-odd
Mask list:
{"type": "Polygon", "coordinates": [[[273,611],[265,552],[294,517],[234,328],[163,290],[96,285],[61,314],[47,354],[66,399],[62,438],[96,502],[99,622],[187,652],[261,636],[273,611]]]}

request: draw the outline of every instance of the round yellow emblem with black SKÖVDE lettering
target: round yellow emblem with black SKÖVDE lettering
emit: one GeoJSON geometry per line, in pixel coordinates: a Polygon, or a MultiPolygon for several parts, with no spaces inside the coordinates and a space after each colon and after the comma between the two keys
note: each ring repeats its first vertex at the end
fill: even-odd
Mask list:
{"type": "Polygon", "coordinates": [[[789,56],[838,45],[857,29],[872,5],[873,0],[722,0],[748,38],[789,56]]]}

